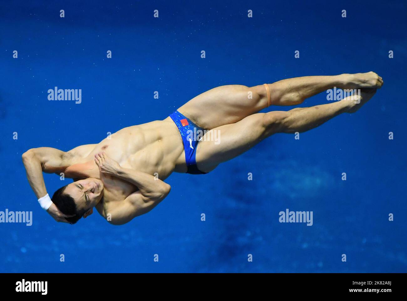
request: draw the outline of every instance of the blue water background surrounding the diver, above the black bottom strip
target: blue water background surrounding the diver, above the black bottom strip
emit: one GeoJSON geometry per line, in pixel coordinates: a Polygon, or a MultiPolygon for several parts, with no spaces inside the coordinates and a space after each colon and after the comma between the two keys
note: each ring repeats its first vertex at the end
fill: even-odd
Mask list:
{"type": "Polygon", "coordinates": [[[33,225],[0,224],[0,272],[406,272],[406,15],[405,1],[2,1],[0,211],[33,211],[33,225]],[[370,70],[385,84],[356,114],[173,174],[170,195],[123,226],[56,223],[26,180],[29,148],[98,143],[216,86],[370,70]],[[82,103],[48,101],[54,86],[82,103]],[[313,226],[278,222],[287,208],[313,211],[313,226]]]}

